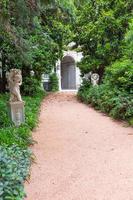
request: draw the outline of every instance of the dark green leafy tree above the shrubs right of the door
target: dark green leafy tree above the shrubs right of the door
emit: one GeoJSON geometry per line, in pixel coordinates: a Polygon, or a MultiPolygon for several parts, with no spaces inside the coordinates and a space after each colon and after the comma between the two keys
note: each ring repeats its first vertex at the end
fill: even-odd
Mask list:
{"type": "Polygon", "coordinates": [[[130,0],[89,0],[79,9],[75,41],[84,54],[79,64],[82,73],[92,70],[103,76],[106,66],[122,56],[132,5],[130,0]]]}

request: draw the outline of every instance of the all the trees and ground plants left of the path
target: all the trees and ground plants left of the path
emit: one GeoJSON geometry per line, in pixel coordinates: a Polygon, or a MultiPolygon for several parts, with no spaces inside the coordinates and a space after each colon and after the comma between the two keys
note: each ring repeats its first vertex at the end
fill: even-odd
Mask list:
{"type": "MultiPolygon", "coordinates": [[[[72,4],[73,5],[73,4],[72,4]]],[[[51,74],[70,39],[71,5],[61,1],[2,0],[0,2],[0,199],[20,200],[29,175],[34,144],[31,131],[37,125],[40,103],[45,96],[41,75],[51,74]],[[21,93],[25,101],[23,125],[9,120],[7,72],[22,71],[21,93]]],[[[51,90],[58,90],[55,74],[51,90]]]]}

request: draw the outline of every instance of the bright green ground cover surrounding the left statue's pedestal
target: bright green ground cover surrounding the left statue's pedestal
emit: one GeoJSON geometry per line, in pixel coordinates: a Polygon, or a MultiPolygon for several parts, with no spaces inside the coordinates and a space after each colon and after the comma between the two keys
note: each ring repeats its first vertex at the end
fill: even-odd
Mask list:
{"type": "Polygon", "coordinates": [[[37,93],[34,97],[24,97],[26,122],[20,127],[16,128],[9,122],[8,110],[7,110],[7,97],[6,95],[1,97],[1,116],[0,116],[0,145],[12,145],[16,144],[21,147],[27,147],[33,143],[31,137],[31,130],[36,126],[38,122],[38,111],[44,92],[37,93]]]}

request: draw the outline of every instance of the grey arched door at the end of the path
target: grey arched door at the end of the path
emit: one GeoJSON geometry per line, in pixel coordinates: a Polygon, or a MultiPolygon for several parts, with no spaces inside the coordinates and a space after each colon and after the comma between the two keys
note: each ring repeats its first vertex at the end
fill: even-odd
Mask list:
{"type": "Polygon", "coordinates": [[[71,56],[65,56],[61,62],[61,89],[76,90],[76,64],[71,56]]]}

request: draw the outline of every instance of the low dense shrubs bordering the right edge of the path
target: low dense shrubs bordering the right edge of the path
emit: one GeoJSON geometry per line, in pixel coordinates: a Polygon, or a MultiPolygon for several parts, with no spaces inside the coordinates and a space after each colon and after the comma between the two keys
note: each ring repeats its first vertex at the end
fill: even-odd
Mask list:
{"type": "Polygon", "coordinates": [[[96,109],[108,113],[111,117],[121,120],[127,120],[132,123],[133,120],[133,94],[126,91],[120,91],[117,87],[111,87],[108,84],[91,86],[90,83],[83,83],[78,92],[80,100],[91,104],[96,109]]]}

